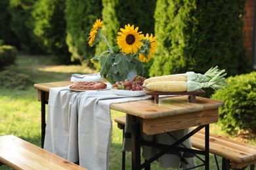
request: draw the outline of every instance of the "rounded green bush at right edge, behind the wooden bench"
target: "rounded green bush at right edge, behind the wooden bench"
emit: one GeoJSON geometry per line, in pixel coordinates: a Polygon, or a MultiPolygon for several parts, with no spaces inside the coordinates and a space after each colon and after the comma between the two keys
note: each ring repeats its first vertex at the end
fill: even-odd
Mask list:
{"type": "Polygon", "coordinates": [[[224,101],[219,112],[222,129],[230,135],[240,130],[256,133],[256,72],[231,76],[226,81],[228,86],[211,97],[224,101]]]}

